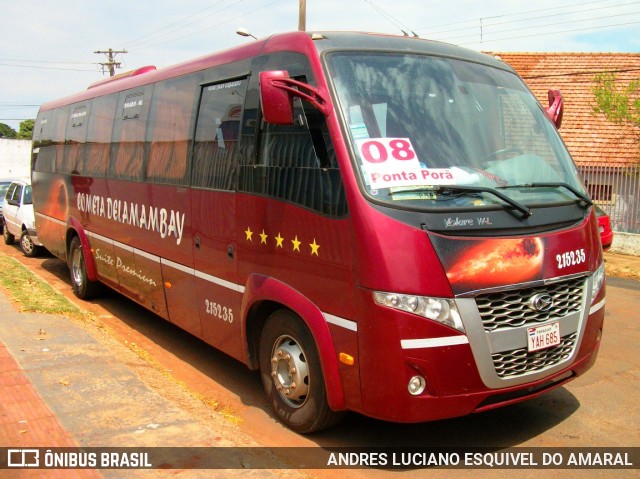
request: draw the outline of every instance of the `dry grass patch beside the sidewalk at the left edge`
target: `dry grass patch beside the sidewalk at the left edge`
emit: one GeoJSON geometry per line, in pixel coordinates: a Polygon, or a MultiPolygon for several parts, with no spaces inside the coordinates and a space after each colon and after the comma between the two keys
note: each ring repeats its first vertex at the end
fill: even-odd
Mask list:
{"type": "Polygon", "coordinates": [[[18,260],[0,254],[0,271],[0,285],[19,305],[21,311],[86,316],[86,311],[71,303],[18,260]]]}

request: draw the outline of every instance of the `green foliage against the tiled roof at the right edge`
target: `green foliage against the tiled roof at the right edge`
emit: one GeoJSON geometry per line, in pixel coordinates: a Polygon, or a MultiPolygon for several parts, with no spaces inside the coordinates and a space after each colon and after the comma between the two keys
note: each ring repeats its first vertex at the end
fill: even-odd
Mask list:
{"type": "Polygon", "coordinates": [[[594,112],[619,125],[640,128],[640,80],[623,86],[616,84],[615,73],[601,73],[591,91],[596,100],[594,112]]]}

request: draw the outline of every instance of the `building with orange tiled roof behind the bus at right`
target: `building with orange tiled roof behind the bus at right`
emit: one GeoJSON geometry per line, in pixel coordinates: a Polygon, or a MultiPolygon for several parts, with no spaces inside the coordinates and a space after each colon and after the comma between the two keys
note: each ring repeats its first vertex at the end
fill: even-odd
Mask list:
{"type": "MultiPolygon", "coordinates": [[[[640,79],[638,53],[493,53],[511,65],[539,101],[547,92],[564,98],[560,132],[595,202],[613,229],[640,234],[640,129],[617,125],[593,111],[594,78],[613,72],[617,83],[640,79]]],[[[621,242],[623,236],[617,235],[621,242]]],[[[614,247],[616,241],[614,241],[614,247]]]]}

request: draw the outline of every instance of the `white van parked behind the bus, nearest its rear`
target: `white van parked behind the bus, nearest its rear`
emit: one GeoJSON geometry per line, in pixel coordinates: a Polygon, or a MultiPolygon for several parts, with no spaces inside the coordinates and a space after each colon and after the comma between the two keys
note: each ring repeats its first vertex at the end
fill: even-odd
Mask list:
{"type": "Polygon", "coordinates": [[[38,256],[43,247],[36,234],[30,180],[11,182],[4,198],[2,216],[5,223],[4,243],[13,244],[18,236],[25,256],[38,256]]]}

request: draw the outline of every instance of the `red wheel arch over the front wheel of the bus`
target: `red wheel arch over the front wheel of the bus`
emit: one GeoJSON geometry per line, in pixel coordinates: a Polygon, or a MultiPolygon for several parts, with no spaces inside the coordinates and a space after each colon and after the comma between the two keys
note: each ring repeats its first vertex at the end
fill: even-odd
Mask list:
{"type": "Polygon", "coordinates": [[[309,329],[320,356],[329,406],[334,411],[346,409],[337,354],[322,311],[296,289],[262,275],[251,275],[242,302],[243,332],[249,367],[258,369],[258,345],[262,328],[269,316],[279,309],[293,312],[309,329]]]}

